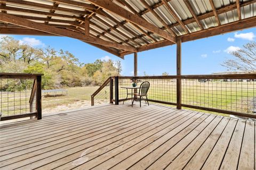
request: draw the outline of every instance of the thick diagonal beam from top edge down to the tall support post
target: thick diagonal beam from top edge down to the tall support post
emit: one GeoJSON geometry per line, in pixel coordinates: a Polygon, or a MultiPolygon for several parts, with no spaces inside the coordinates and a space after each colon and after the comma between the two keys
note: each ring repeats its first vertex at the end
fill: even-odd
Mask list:
{"type": "Polygon", "coordinates": [[[105,10],[117,14],[124,18],[125,20],[128,20],[129,22],[132,22],[134,24],[140,25],[141,27],[156,33],[157,35],[164,37],[167,40],[172,41],[173,43],[176,42],[176,38],[173,35],[170,35],[169,33],[159,29],[155,25],[139,18],[137,15],[125,10],[124,8],[114,4],[110,1],[97,1],[97,0],[88,0],[89,2],[93,3],[94,5],[100,6],[104,8],[105,10]]]}

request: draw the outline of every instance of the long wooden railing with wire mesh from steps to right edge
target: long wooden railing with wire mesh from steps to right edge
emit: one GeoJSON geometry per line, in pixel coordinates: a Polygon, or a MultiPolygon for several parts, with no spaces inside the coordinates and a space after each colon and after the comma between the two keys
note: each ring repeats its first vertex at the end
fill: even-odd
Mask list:
{"type": "MultiPolygon", "coordinates": [[[[119,104],[126,97],[121,86],[131,86],[131,81],[149,81],[148,99],[154,103],[201,109],[229,115],[256,118],[256,74],[166,75],[109,78],[110,103],[119,104]],[[113,95],[113,89],[114,94],[113,95]],[[114,97],[114,98],[113,98],[114,97]]],[[[139,85],[138,84],[138,85],[139,85]]],[[[93,101],[92,101],[93,104],[93,101]]]]}

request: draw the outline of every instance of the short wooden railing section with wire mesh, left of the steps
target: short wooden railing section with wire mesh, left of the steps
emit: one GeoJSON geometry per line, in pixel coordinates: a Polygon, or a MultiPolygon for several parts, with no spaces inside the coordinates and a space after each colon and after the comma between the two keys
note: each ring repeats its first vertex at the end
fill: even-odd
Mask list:
{"type": "Polygon", "coordinates": [[[42,119],[42,75],[0,73],[1,121],[33,116],[42,119]]]}

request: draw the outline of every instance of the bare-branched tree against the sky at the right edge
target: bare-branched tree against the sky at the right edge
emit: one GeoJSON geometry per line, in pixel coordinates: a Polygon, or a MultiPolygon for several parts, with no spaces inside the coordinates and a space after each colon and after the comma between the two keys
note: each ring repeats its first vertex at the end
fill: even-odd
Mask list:
{"type": "Polygon", "coordinates": [[[221,65],[229,71],[256,72],[256,43],[251,41],[243,45],[242,49],[231,52],[235,58],[226,60],[221,65]]]}

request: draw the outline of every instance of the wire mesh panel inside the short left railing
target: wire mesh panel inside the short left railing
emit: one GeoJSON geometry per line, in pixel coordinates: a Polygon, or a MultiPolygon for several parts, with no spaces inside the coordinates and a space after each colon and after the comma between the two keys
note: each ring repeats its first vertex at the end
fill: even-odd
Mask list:
{"type": "Polygon", "coordinates": [[[0,112],[12,116],[35,111],[36,102],[30,105],[34,79],[0,79],[0,112]]]}

